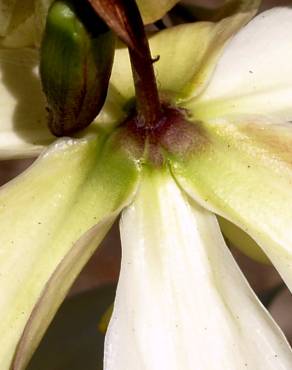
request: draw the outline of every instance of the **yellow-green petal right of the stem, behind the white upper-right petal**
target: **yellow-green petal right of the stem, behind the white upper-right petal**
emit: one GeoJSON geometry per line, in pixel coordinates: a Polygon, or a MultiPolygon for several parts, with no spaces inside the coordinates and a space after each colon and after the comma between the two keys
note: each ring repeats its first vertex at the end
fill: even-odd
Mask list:
{"type": "Polygon", "coordinates": [[[225,43],[253,11],[239,13],[218,23],[198,22],[158,33],[151,40],[159,87],[179,99],[197,96],[206,87],[225,43]]]}

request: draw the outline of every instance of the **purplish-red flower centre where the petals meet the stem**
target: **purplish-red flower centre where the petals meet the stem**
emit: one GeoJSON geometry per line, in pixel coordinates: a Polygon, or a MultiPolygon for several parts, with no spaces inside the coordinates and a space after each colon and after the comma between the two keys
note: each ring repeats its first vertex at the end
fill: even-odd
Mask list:
{"type": "Polygon", "coordinates": [[[123,145],[143,162],[161,167],[170,156],[186,157],[208,144],[200,123],[191,123],[187,111],[161,103],[161,115],[151,127],[140,122],[135,111],[121,125],[123,145]],[[134,145],[133,145],[134,143],[134,145]]]}

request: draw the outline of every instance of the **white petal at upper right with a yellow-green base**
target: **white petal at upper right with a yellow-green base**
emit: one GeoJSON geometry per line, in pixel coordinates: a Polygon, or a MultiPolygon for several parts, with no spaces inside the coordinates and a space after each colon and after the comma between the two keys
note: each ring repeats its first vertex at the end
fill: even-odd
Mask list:
{"type": "Polygon", "coordinates": [[[226,47],[204,93],[198,119],[262,114],[292,119],[292,8],[258,15],[226,47]]]}

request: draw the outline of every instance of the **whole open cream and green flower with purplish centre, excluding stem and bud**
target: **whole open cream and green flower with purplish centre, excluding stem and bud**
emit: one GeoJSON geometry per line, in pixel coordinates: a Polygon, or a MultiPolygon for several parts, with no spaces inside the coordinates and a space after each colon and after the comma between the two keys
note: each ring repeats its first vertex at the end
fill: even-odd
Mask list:
{"type": "Polygon", "coordinates": [[[249,22],[257,2],[242,3],[217,23],[150,37],[171,116],[155,140],[122,124],[135,92],[120,47],[95,122],[79,137],[54,142],[38,51],[27,48],[42,13],[23,20],[32,22],[27,34],[3,31],[0,155],[40,156],[0,190],[1,370],[25,369],[120,213],[122,263],[106,370],[291,368],[291,349],[215,216],[248,233],[291,289],[292,9],[249,22]]]}

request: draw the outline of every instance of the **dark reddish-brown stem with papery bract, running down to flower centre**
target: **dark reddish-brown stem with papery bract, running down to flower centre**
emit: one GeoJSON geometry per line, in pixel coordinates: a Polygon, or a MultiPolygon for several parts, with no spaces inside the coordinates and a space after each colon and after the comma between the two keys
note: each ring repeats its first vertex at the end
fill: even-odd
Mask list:
{"type": "Polygon", "coordinates": [[[154,129],[162,115],[153,60],[135,0],[88,0],[110,28],[127,44],[136,91],[139,126],[154,129]]]}

